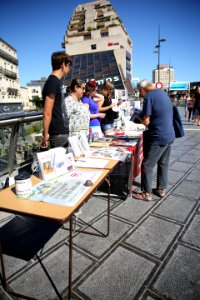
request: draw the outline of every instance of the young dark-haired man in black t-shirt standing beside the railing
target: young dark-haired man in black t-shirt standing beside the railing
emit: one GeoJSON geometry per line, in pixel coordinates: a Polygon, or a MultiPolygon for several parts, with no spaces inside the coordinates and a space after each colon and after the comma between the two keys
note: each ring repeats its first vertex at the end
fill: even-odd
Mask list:
{"type": "Polygon", "coordinates": [[[52,73],[42,91],[43,98],[43,138],[41,148],[65,147],[68,132],[63,120],[62,81],[70,71],[72,61],[65,51],[54,52],[51,56],[52,73]]]}

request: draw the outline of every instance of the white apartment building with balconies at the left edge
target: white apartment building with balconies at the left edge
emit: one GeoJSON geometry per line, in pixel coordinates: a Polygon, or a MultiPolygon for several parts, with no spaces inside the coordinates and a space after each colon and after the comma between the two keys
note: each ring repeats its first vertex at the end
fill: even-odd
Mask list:
{"type": "Polygon", "coordinates": [[[0,38],[0,113],[22,110],[17,51],[0,38]]]}

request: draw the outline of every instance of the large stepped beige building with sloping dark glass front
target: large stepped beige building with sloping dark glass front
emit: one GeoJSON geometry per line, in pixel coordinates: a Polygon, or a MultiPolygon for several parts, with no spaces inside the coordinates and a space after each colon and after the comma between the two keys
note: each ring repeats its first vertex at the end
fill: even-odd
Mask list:
{"type": "Polygon", "coordinates": [[[66,84],[74,77],[94,79],[98,85],[110,80],[116,89],[133,91],[132,41],[109,1],[78,5],[62,46],[73,61],[66,84]]]}

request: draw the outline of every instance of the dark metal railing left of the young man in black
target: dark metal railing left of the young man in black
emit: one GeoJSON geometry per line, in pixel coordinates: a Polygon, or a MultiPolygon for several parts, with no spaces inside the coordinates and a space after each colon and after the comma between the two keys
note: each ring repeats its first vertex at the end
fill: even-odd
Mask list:
{"type": "Polygon", "coordinates": [[[42,113],[41,110],[0,116],[0,177],[6,174],[10,176],[15,169],[33,161],[34,152],[39,150],[39,140],[35,142],[33,137],[39,132],[35,131],[32,135],[27,133],[38,121],[37,127],[41,132],[42,113]],[[23,159],[18,159],[19,155],[23,159]]]}

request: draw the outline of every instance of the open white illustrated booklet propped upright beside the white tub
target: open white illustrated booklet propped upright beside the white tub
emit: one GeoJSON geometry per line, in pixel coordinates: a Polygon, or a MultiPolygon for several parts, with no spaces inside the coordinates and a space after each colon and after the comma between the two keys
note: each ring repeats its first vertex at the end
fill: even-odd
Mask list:
{"type": "Polygon", "coordinates": [[[75,169],[72,153],[66,153],[63,147],[37,153],[40,177],[49,180],[75,169]]]}

